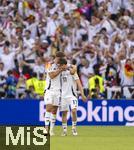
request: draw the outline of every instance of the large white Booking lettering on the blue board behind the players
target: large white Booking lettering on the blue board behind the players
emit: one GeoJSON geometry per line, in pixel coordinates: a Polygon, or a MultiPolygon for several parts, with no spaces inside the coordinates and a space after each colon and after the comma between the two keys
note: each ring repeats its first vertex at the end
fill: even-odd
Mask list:
{"type": "MultiPolygon", "coordinates": [[[[40,102],[40,121],[44,120],[45,107],[44,102],[40,102]]],[[[78,111],[81,112],[78,116],[78,122],[87,121],[89,123],[113,123],[115,121],[126,122],[126,125],[134,125],[134,106],[122,108],[121,106],[108,106],[108,101],[101,101],[101,105],[94,107],[92,101],[87,102],[87,109],[84,106],[79,106],[78,111]],[[116,117],[115,117],[116,116],[116,117]]],[[[71,117],[68,113],[68,119],[71,117]]],[[[62,121],[60,113],[57,114],[57,120],[62,121]]]]}

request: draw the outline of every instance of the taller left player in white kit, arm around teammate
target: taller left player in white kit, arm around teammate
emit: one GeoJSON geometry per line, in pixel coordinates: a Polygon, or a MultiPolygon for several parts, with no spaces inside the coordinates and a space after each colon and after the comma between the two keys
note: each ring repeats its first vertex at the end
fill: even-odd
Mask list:
{"type": "Polygon", "coordinates": [[[50,121],[53,124],[56,118],[57,108],[61,100],[61,72],[64,70],[62,64],[58,64],[59,59],[64,57],[64,53],[57,52],[54,64],[47,71],[46,88],[45,88],[45,128],[48,131],[50,121]]]}

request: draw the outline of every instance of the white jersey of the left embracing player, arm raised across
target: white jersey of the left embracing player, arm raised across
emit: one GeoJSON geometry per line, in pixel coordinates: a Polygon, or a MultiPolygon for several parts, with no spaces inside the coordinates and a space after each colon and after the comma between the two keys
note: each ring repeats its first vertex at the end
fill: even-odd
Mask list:
{"type": "Polygon", "coordinates": [[[57,75],[54,79],[51,79],[49,76],[49,73],[56,71],[57,68],[58,66],[56,64],[52,64],[50,69],[47,71],[45,90],[52,90],[52,91],[61,90],[61,74],[57,75]]]}

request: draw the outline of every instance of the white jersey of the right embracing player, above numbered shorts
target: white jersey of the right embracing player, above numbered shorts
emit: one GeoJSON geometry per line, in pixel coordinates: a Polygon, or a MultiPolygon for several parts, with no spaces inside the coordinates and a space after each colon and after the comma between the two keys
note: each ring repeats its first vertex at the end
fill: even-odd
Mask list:
{"type": "Polygon", "coordinates": [[[71,75],[70,71],[62,72],[62,98],[69,99],[77,97],[77,85],[75,80],[79,79],[77,74],[71,75]]]}

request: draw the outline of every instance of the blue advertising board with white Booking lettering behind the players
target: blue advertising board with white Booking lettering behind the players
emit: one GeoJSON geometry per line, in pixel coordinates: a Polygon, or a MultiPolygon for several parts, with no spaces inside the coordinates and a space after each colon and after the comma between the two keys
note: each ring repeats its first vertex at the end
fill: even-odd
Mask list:
{"type": "MultiPolygon", "coordinates": [[[[40,100],[0,100],[0,125],[42,126],[45,104],[40,100]]],[[[134,100],[79,100],[78,125],[134,126],[134,100]]],[[[61,112],[56,125],[61,125],[61,112]]],[[[71,113],[68,113],[71,125],[71,113]]]]}

